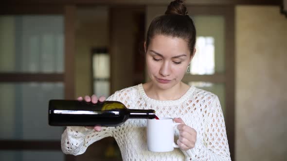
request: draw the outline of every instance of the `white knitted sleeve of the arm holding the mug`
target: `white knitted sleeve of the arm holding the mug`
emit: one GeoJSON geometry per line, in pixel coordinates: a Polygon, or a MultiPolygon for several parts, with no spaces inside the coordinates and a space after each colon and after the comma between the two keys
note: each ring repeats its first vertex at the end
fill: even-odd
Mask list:
{"type": "Polygon", "coordinates": [[[183,151],[187,157],[186,161],[231,161],[224,117],[218,97],[215,96],[214,101],[208,104],[210,111],[204,116],[206,129],[203,140],[197,139],[194,148],[183,151]]]}

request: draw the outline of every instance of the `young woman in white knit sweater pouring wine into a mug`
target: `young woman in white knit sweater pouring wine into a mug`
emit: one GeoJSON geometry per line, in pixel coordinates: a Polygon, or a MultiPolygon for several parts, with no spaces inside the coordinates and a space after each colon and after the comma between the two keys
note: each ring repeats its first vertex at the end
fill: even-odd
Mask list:
{"type": "MultiPolygon", "coordinates": [[[[67,127],[62,134],[63,152],[79,155],[92,143],[112,136],[124,161],[230,161],[218,97],[181,81],[196,52],[195,43],[196,29],[183,1],[172,1],[165,15],[151,22],[144,43],[151,81],[117,91],[107,99],[120,101],[127,108],[154,109],[159,117],[173,117],[182,124],[178,126],[179,149],[148,151],[146,120],[130,119],[119,127],[67,127]]],[[[84,99],[98,101],[95,95],[84,99]]]]}

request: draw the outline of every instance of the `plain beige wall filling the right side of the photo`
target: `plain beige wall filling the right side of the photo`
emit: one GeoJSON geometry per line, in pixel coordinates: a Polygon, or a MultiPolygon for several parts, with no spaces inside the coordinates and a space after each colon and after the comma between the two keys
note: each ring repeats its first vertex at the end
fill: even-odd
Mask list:
{"type": "Polygon", "coordinates": [[[287,18],[276,6],[237,6],[236,161],[287,159],[287,18]]]}

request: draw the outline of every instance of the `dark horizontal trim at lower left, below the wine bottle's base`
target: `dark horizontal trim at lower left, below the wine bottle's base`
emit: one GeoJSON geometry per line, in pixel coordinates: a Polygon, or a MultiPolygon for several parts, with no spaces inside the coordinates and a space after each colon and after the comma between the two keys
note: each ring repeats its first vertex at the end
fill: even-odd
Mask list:
{"type": "Polygon", "coordinates": [[[0,150],[61,150],[60,141],[0,140],[0,150]]]}

